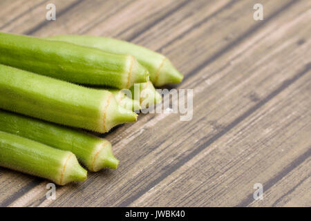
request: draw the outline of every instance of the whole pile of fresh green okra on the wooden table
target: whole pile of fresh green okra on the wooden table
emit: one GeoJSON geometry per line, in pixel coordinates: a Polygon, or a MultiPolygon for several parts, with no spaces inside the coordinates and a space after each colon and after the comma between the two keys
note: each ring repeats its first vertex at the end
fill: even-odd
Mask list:
{"type": "Polygon", "coordinates": [[[0,166],[59,185],[116,169],[111,143],[90,132],[135,122],[161,102],[155,86],[180,81],[167,57],[126,41],[0,32],[0,166]]]}

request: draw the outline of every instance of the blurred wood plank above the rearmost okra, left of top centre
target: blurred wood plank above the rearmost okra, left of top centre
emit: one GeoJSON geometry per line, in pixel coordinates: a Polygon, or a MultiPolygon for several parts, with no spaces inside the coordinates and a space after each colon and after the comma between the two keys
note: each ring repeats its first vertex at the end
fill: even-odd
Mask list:
{"type": "MultiPolygon", "coordinates": [[[[88,34],[88,35],[109,35],[131,36],[148,29],[153,23],[165,18],[169,13],[173,13],[185,6],[187,1],[120,1],[122,6],[115,6],[114,1],[104,1],[102,5],[96,7],[79,7],[79,16],[73,17],[67,13],[59,19],[59,23],[50,23],[48,26],[34,33],[37,36],[48,36],[55,34],[88,34]],[[135,12],[135,13],[133,13],[135,12]],[[151,13],[150,13],[151,12],[151,13]],[[86,16],[90,19],[85,19],[86,16]],[[111,15],[111,16],[109,16],[111,15]],[[131,23],[129,23],[131,21],[131,23]],[[144,22],[141,22],[144,21],[144,22]],[[56,30],[53,31],[53,30],[56,30]]],[[[82,3],[83,5],[83,3],[82,3]]],[[[72,12],[77,14],[76,12],[72,12]]]]}

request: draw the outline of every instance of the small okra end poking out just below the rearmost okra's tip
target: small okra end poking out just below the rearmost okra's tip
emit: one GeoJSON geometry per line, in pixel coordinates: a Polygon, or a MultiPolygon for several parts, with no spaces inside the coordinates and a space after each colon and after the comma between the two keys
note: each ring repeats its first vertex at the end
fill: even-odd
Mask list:
{"type": "Polygon", "coordinates": [[[130,88],[133,99],[140,102],[142,108],[158,104],[162,101],[161,95],[156,91],[151,81],[134,84],[130,88]]]}

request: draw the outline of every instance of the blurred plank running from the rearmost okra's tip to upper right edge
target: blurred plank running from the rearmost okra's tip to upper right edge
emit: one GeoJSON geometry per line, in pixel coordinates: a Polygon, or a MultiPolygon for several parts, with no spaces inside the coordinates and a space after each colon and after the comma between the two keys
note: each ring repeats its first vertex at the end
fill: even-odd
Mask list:
{"type": "MultiPolygon", "coordinates": [[[[203,23],[199,21],[190,32],[185,32],[180,37],[177,35],[171,39],[173,42],[168,41],[160,48],[153,48],[152,46],[153,42],[156,41],[156,32],[163,32],[159,29],[164,28],[162,27],[164,24],[161,26],[160,23],[153,27],[153,30],[144,33],[143,36],[133,42],[168,55],[173,64],[176,64],[182,73],[185,73],[187,79],[192,73],[198,72],[200,68],[214,61],[219,54],[221,55],[230,47],[236,46],[238,41],[250,34],[249,32],[256,30],[263,24],[263,22],[252,19],[254,2],[233,1],[229,6],[224,6],[223,10],[220,9],[217,15],[213,15],[207,21],[204,20],[203,23]],[[150,41],[150,39],[154,40],[150,41]]],[[[262,1],[265,5],[265,19],[269,20],[270,15],[274,17],[276,9],[281,9],[288,2],[291,1],[262,1]]],[[[204,11],[200,13],[204,14],[204,11]]],[[[165,28],[164,31],[171,33],[171,27],[165,28]]]]}

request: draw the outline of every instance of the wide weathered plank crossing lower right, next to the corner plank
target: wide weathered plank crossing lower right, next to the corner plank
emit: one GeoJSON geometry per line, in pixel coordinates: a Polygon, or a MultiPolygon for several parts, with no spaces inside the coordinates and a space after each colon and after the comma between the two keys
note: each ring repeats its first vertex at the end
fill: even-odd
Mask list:
{"type": "Polygon", "coordinates": [[[265,194],[258,202],[272,206],[270,186],[277,200],[283,191],[310,177],[310,87],[311,67],[131,206],[247,206],[254,201],[256,183],[263,184],[265,194]],[[288,175],[288,186],[275,186],[293,169],[296,173],[288,175]]]}

